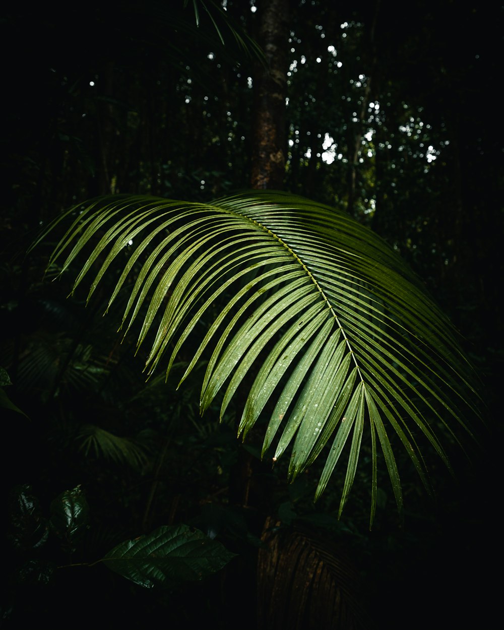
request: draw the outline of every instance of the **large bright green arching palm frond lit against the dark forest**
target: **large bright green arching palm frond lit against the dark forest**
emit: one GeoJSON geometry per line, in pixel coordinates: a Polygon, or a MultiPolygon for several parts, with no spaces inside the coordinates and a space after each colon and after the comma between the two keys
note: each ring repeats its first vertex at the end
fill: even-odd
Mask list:
{"type": "Polygon", "coordinates": [[[372,517],[379,449],[402,505],[391,435],[428,487],[416,438],[449,466],[441,436],[469,432],[473,376],[450,324],[396,253],[343,213],[256,191],[209,204],[108,198],[79,210],[51,262],[64,258],[66,269],[82,250],[75,285],[93,272],[89,297],[123,266],[110,303],[127,293],[122,328],[141,323],[149,373],[165,353],[169,371],[191,338],[182,381],[205,353],[202,411],[224,389],[224,413],[247,384],[239,433],[268,413],[263,454],[276,443],[278,458],[294,442],[290,478],[328,446],[316,496],[343,454],[340,512],[365,432],[372,517]]]}

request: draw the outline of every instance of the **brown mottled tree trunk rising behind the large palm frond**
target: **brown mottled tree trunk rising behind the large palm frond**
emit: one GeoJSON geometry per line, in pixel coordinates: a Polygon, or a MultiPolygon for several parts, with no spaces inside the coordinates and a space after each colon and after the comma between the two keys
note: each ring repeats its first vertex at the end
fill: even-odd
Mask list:
{"type": "Polygon", "coordinates": [[[252,188],[282,188],[285,175],[285,97],[289,51],[289,0],[261,5],[259,42],[268,62],[258,69],[251,163],[252,188]]]}

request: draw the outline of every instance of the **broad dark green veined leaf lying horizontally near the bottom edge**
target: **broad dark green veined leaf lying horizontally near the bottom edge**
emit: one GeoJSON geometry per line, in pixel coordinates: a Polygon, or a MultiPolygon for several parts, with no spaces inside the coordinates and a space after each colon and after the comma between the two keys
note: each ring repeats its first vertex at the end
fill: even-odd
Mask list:
{"type": "Polygon", "coordinates": [[[106,554],[108,568],[142,587],[202,580],[236,554],[187,525],[158,527],[147,536],[122,542],[106,554]]]}

